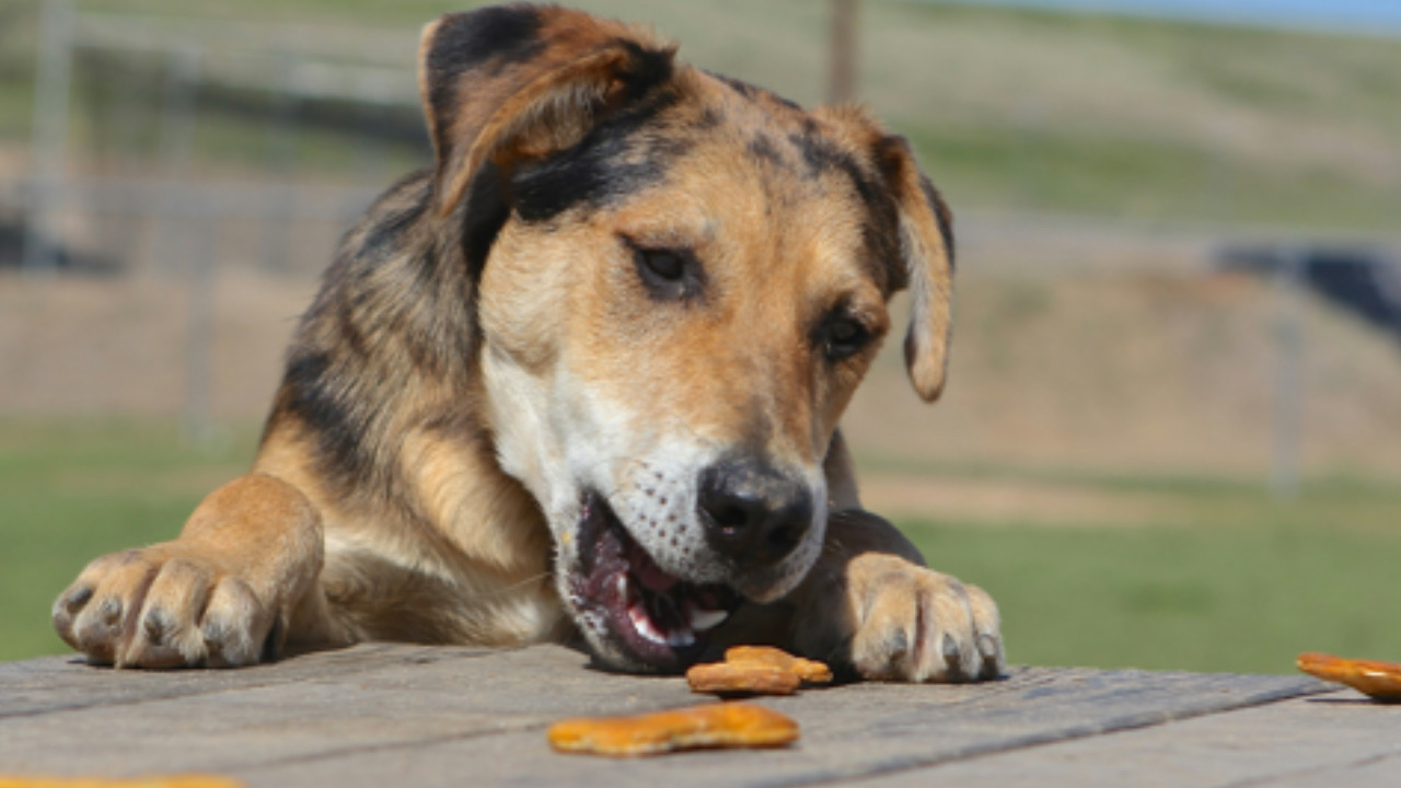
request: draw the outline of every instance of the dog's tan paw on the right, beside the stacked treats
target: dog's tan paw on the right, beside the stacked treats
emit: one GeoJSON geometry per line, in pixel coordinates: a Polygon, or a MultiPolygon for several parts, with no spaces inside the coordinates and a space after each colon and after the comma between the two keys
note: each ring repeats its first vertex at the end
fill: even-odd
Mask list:
{"type": "Polygon", "coordinates": [[[846,566],[852,667],[866,679],[976,681],[1002,673],[998,606],[978,586],[867,552],[846,566]]]}

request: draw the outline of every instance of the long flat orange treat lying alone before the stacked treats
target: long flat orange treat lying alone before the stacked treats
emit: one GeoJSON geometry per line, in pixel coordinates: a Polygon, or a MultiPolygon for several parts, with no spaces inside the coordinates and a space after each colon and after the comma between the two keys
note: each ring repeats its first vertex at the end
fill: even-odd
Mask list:
{"type": "Polygon", "coordinates": [[[635,716],[565,719],[549,745],[566,753],[650,756],[712,747],[780,747],[797,740],[797,722],[758,705],[722,702],[635,716]]]}

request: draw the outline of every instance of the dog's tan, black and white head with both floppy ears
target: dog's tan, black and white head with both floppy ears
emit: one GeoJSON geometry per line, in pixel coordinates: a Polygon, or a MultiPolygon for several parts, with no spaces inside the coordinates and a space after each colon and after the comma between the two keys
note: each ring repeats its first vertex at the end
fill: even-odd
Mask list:
{"type": "Polygon", "coordinates": [[[902,139],[674,49],[521,4],[443,17],[420,50],[502,467],[549,520],[574,621],[629,669],[686,665],[801,580],[887,300],[913,293],[926,400],[950,317],[948,215],[902,139]]]}

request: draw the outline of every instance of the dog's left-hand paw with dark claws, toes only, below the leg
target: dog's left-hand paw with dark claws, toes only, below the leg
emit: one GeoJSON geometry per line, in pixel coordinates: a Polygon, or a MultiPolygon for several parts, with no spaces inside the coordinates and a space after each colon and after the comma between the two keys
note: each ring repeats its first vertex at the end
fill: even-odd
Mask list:
{"type": "Polygon", "coordinates": [[[242,579],[179,543],[92,561],[53,603],[53,627],[119,667],[252,665],[275,623],[242,579]]]}

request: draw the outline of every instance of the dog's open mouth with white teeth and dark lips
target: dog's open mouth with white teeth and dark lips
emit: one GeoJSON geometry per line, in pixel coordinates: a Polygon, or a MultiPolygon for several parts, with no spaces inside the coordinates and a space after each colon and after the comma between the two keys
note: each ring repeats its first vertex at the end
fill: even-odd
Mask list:
{"type": "Polygon", "coordinates": [[[581,571],[570,578],[570,590],[580,616],[625,656],[661,670],[695,662],[709,631],[741,602],[727,586],[664,572],[598,495],[584,499],[579,555],[581,571]]]}

